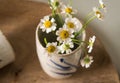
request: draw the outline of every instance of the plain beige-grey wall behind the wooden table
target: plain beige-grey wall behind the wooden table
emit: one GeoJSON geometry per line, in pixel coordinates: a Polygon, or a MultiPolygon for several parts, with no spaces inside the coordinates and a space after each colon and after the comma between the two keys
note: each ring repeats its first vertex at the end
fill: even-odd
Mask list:
{"type": "MultiPolygon", "coordinates": [[[[47,2],[47,0],[33,1],[47,2]]],[[[66,2],[68,0],[61,1],[66,2]]],[[[120,0],[103,1],[106,3],[108,9],[104,21],[95,20],[90,25],[103,42],[114,65],[120,73],[120,0]]],[[[98,0],[73,0],[73,7],[79,10],[80,18],[83,18],[96,4],[98,5],[98,0]]]]}

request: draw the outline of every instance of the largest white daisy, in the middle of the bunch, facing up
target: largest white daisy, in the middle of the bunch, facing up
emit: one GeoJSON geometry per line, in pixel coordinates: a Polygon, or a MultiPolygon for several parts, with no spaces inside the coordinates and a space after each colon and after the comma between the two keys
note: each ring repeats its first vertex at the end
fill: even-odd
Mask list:
{"type": "Polygon", "coordinates": [[[59,41],[60,43],[72,41],[71,38],[74,37],[73,31],[71,32],[70,30],[66,28],[59,28],[59,30],[56,31],[56,35],[58,36],[57,41],[59,41]]]}

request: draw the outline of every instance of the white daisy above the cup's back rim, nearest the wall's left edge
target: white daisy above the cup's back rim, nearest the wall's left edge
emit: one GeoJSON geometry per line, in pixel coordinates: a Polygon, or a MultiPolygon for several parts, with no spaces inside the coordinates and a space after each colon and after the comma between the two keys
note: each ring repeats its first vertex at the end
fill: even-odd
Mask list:
{"type": "Polygon", "coordinates": [[[62,8],[61,8],[61,10],[62,10],[61,13],[62,14],[66,14],[67,16],[71,16],[71,15],[77,13],[77,11],[73,10],[73,8],[71,6],[69,6],[69,5],[68,6],[63,5],[62,8]]]}

